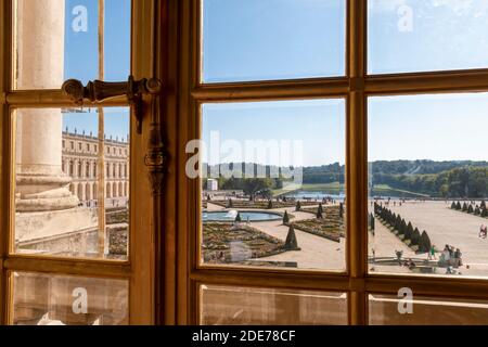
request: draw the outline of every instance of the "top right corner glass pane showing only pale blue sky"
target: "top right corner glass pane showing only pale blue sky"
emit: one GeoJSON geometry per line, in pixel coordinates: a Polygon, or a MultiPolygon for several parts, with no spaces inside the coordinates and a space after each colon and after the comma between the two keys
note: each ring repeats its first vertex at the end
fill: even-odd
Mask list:
{"type": "Polygon", "coordinates": [[[488,67],[486,0],[369,0],[368,70],[488,67]]]}

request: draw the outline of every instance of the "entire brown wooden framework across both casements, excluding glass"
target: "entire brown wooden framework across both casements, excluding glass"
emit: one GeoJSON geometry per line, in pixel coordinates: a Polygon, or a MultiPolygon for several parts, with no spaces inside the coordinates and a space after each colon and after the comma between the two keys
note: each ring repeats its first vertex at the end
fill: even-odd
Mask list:
{"type": "MultiPolygon", "coordinates": [[[[70,103],[57,90],[11,90],[12,18],[10,1],[3,1],[0,5],[0,324],[9,321],[9,271],[129,279],[131,324],[198,323],[200,284],[241,286],[246,283],[255,287],[345,292],[348,293],[348,321],[355,325],[368,324],[369,293],[396,294],[399,287],[408,286],[419,296],[488,299],[486,280],[372,274],[367,268],[368,97],[488,91],[488,69],[369,76],[365,69],[367,0],[345,1],[345,77],[203,85],[200,82],[200,0],[137,0],[132,13],[132,70],[137,78],[155,76],[167,86],[153,117],[160,119],[168,160],[162,196],[153,196],[152,202],[143,198],[138,209],[131,206],[130,259],[127,262],[9,254],[12,226],[9,108],[56,107],[70,103]],[[200,252],[196,242],[200,237],[200,184],[184,175],[188,159],[184,146],[200,134],[198,105],[213,101],[309,98],[343,98],[347,102],[347,273],[201,267],[195,256],[200,252]],[[141,209],[151,210],[151,218],[138,215],[137,210],[141,209]]],[[[119,106],[125,102],[115,100],[103,105],[119,106]]],[[[136,185],[140,192],[138,197],[151,196],[144,151],[133,151],[136,146],[145,149],[149,138],[146,126],[142,136],[131,134],[131,196],[136,185]]]]}

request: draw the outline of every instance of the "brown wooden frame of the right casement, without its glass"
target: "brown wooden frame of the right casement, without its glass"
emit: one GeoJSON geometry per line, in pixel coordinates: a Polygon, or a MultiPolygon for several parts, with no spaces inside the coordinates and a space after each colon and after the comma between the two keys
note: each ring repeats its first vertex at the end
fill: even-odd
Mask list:
{"type": "MultiPolygon", "coordinates": [[[[367,73],[367,0],[347,2],[346,76],[334,78],[273,80],[256,82],[201,82],[201,0],[168,0],[172,18],[169,42],[178,61],[178,112],[168,114],[178,126],[168,129],[178,140],[168,147],[176,160],[169,169],[179,172],[170,180],[165,198],[175,198],[176,220],[166,223],[176,237],[170,268],[171,283],[165,284],[166,303],[174,308],[162,311],[168,322],[198,324],[201,284],[291,290],[338,291],[348,293],[348,322],[368,324],[369,294],[397,295],[401,287],[412,288],[415,296],[488,299],[488,281],[481,279],[446,279],[440,277],[375,274],[368,272],[368,115],[369,97],[488,91],[488,68],[444,70],[435,73],[368,75],[367,73]],[[198,180],[184,177],[189,155],[188,141],[200,137],[200,105],[205,102],[274,101],[313,98],[342,98],[347,104],[347,250],[346,273],[285,271],[273,269],[202,267],[201,201],[198,180]],[[176,188],[178,187],[178,188],[176,188]],[[183,198],[176,198],[176,196],[183,198]],[[175,226],[176,223],[176,226],[175,226]],[[178,292],[178,293],[177,293],[178,292]]],[[[176,76],[175,74],[171,76],[176,76]]],[[[168,121],[170,121],[168,120],[168,121]]],[[[168,250],[168,245],[166,245],[168,250]]]]}

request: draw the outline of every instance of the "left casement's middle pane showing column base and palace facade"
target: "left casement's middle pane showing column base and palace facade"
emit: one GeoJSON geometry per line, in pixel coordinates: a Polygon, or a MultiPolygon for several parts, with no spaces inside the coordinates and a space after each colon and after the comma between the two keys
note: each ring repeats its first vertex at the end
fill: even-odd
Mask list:
{"type": "Polygon", "coordinates": [[[127,259],[129,108],[102,111],[15,111],[15,252],[127,259]]]}

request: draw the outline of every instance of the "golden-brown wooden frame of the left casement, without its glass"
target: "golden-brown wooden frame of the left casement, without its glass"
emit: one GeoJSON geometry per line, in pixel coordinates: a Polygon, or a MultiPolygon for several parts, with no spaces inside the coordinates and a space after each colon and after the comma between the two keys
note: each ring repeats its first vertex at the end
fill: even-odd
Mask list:
{"type": "MultiPolygon", "coordinates": [[[[157,47],[158,27],[162,18],[157,0],[132,1],[131,70],[136,79],[156,76],[154,52],[157,47]],[[151,18],[151,20],[147,20],[151,18]]],[[[155,294],[155,229],[152,220],[153,198],[144,165],[149,121],[143,123],[142,133],[136,134],[136,120],[130,117],[130,201],[129,255],[127,261],[56,258],[18,255],[13,253],[13,177],[14,159],[12,110],[20,107],[64,107],[73,102],[60,90],[13,90],[12,88],[12,1],[0,4],[0,325],[12,323],[12,282],[15,271],[77,275],[87,278],[121,279],[129,282],[130,324],[154,324],[156,319],[155,294]]],[[[61,88],[61,86],[60,86],[61,88]]],[[[85,102],[85,107],[129,106],[125,98],[101,103],[85,102]]],[[[151,115],[144,114],[145,119],[151,115]]]]}

